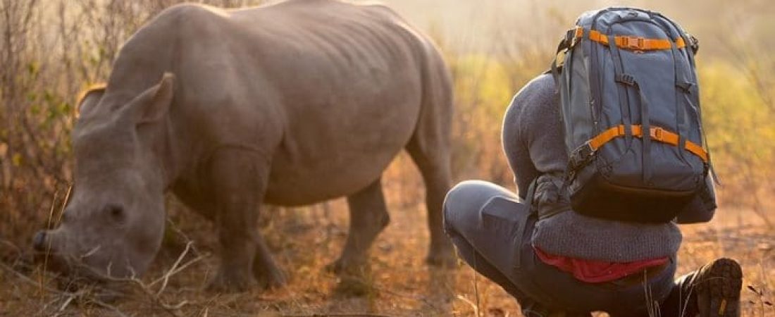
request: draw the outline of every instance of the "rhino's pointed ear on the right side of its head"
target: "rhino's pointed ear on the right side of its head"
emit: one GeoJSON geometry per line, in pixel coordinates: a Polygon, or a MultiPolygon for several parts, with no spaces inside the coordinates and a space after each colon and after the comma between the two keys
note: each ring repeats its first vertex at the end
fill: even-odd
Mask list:
{"type": "Polygon", "coordinates": [[[170,109],[174,96],[175,75],[164,73],[159,84],[143,91],[136,100],[133,109],[136,115],[136,123],[157,122],[164,118],[170,109]]]}

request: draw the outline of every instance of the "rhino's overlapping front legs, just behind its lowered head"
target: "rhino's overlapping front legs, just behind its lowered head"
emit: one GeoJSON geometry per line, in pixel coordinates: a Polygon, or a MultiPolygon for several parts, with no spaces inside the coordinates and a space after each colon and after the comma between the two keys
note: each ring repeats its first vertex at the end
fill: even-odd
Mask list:
{"type": "Polygon", "coordinates": [[[269,167],[242,150],[221,150],[212,160],[215,226],[221,264],[210,283],[214,291],[246,291],[256,284],[280,286],[285,282],[263,238],[258,233],[258,205],[267,184],[269,167]]]}

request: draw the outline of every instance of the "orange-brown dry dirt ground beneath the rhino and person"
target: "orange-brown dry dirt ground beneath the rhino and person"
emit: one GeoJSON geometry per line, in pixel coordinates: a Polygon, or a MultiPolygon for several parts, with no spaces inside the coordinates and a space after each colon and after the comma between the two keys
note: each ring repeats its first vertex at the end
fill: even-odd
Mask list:
{"type": "MultiPolygon", "coordinates": [[[[439,270],[423,263],[428,231],[425,208],[418,203],[422,183],[390,181],[396,178],[384,184],[391,224],[373,246],[370,272],[359,281],[341,281],[325,271],[346,238],[342,199],[306,208],[267,208],[261,232],[289,284],[281,290],[238,295],[203,290],[217,264],[212,226],[191,212],[176,211],[171,212],[164,250],[142,281],[126,283],[126,298],[107,301],[88,290],[56,291],[47,275],[20,255],[15,262],[0,262],[0,315],[520,315],[514,299],[466,264],[439,270]],[[192,247],[187,250],[189,241],[192,247]],[[181,253],[184,257],[176,265],[181,253]]],[[[173,204],[171,209],[180,207],[173,204]]],[[[719,210],[711,223],[682,229],[679,274],[715,257],[735,258],[745,273],[742,315],[775,316],[775,307],[766,304],[775,300],[773,229],[746,212],[729,209],[719,210]]]]}

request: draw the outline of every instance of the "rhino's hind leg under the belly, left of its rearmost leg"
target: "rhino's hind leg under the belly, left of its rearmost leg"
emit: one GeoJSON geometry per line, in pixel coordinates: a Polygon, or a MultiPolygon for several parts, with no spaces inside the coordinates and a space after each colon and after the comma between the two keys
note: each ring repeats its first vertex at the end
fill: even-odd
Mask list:
{"type": "Polygon", "coordinates": [[[350,232],[342,254],[328,269],[338,274],[360,274],[368,261],[371,243],[390,222],[382,193],[381,178],[347,197],[350,232]]]}

